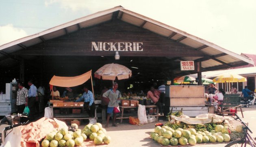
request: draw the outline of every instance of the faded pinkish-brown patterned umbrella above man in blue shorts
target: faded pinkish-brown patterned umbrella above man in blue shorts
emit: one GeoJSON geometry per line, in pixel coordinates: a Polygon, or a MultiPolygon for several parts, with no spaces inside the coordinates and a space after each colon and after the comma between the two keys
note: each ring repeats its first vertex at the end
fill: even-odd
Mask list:
{"type": "Polygon", "coordinates": [[[106,64],[94,73],[94,77],[102,80],[128,79],[132,76],[132,71],[119,64],[106,64]]]}

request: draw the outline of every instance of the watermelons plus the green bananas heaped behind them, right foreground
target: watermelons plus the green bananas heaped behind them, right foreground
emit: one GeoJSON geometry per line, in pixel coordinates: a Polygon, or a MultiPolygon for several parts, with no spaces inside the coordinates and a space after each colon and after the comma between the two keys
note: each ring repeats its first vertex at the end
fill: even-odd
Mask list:
{"type": "MultiPolygon", "coordinates": [[[[156,126],[150,137],[163,146],[196,145],[198,143],[222,143],[230,141],[231,125],[223,123],[185,124],[184,122],[156,126]]],[[[241,131],[241,127],[237,127],[241,131]]],[[[236,130],[236,132],[238,132],[236,130]]]]}

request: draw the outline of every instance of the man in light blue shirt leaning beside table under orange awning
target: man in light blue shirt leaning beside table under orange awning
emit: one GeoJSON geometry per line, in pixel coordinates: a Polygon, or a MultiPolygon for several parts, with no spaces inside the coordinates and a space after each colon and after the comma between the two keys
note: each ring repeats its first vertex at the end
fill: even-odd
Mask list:
{"type": "Polygon", "coordinates": [[[95,104],[93,99],[93,93],[88,90],[87,86],[84,86],[85,92],[82,94],[82,97],[80,97],[76,102],[84,101],[84,108],[87,111],[90,118],[94,117],[94,111],[95,111],[95,104]]]}

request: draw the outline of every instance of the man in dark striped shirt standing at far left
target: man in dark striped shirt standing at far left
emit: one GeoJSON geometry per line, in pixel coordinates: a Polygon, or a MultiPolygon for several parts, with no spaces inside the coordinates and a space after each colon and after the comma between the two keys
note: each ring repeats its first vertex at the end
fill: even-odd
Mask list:
{"type": "Polygon", "coordinates": [[[18,107],[18,113],[22,114],[28,105],[28,89],[24,87],[24,83],[22,82],[18,84],[18,87],[16,105],[18,107]]]}

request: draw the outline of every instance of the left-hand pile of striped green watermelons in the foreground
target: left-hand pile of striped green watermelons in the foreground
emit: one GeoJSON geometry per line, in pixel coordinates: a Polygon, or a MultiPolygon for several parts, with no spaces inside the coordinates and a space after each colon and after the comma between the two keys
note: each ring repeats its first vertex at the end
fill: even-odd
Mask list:
{"type": "Polygon", "coordinates": [[[111,137],[106,135],[106,130],[100,123],[88,124],[83,130],[78,129],[77,124],[72,124],[71,128],[53,130],[42,141],[42,147],[79,147],[87,140],[94,141],[95,145],[109,144],[111,141],[111,137]]]}

